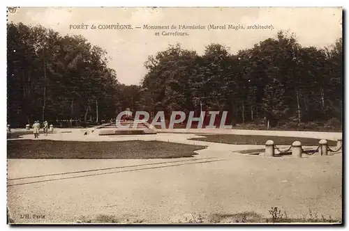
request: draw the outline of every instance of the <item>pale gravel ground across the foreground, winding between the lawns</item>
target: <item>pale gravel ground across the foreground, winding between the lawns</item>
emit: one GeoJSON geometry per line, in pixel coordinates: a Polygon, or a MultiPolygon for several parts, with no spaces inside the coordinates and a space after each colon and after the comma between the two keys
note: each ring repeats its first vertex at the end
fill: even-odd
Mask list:
{"type": "MultiPolygon", "coordinates": [[[[272,135],[276,135],[274,131],[272,135]]],[[[320,134],[305,137],[317,136],[320,134]]],[[[320,138],[335,136],[339,134],[320,138]]],[[[57,140],[100,138],[87,137],[40,136],[57,140]]],[[[268,210],[279,207],[288,217],[309,218],[311,209],[319,217],[341,219],[341,153],[302,159],[267,158],[233,152],[263,145],[186,140],[190,137],[195,136],[157,134],[103,137],[103,141],[156,138],[208,146],[197,151],[199,155],[194,158],[8,159],[10,216],[15,223],[75,223],[78,219],[96,221],[98,217],[110,217],[118,223],[183,223],[188,217],[200,215],[204,222],[210,222],[217,214],[241,212],[269,217],[268,210]],[[29,214],[29,218],[23,214],[29,214]]]]}

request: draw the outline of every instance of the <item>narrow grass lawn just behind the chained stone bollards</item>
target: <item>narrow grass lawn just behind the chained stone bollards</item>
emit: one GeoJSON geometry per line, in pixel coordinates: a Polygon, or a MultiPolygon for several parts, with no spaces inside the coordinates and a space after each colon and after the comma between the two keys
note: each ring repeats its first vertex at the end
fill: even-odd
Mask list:
{"type": "MultiPolygon", "coordinates": [[[[292,145],[294,141],[300,141],[302,145],[318,145],[320,139],[299,138],[287,136],[254,136],[254,135],[233,135],[233,134],[205,134],[205,138],[191,138],[195,141],[208,141],[214,143],[230,143],[238,145],[265,145],[267,140],[272,140],[276,145],[292,145]]],[[[335,146],[336,141],[327,141],[330,146],[335,146]]]]}

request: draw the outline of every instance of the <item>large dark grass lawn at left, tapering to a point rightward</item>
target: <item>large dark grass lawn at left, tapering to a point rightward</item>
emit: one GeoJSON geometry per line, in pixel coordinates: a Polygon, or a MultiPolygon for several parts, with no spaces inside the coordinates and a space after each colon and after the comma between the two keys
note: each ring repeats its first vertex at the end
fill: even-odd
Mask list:
{"type": "Polygon", "coordinates": [[[193,157],[205,148],[161,141],[7,141],[8,159],[165,159],[193,157]]]}

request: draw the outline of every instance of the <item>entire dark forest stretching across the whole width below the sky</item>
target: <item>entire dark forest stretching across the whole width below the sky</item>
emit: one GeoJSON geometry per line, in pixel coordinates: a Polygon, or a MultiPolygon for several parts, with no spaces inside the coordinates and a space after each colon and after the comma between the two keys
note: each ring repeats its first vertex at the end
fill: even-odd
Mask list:
{"type": "Polygon", "coordinates": [[[144,62],[139,86],[125,86],[107,67],[107,52],[80,35],[12,23],[7,32],[11,127],[34,120],[86,126],[126,108],[151,116],[228,111],[226,124],[234,126],[341,127],[341,38],[330,47],[303,47],[279,31],[236,54],[219,44],[202,55],[170,45],[144,62]]]}

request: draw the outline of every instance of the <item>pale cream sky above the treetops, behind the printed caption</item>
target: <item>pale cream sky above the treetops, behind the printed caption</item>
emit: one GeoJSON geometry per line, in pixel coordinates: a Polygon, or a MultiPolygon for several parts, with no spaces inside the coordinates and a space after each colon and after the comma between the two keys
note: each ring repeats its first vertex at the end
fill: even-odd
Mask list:
{"type": "MultiPolygon", "coordinates": [[[[295,33],[305,46],[327,47],[342,37],[341,8],[18,8],[8,13],[9,22],[41,24],[61,35],[80,34],[92,45],[105,49],[110,57],[108,66],[116,70],[117,79],[126,85],[139,84],[147,73],[144,62],[168,45],[180,43],[184,49],[203,54],[205,46],[219,43],[236,54],[239,49],[253,47],[277,31],[295,33]],[[74,29],[77,25],[88,29],[74,29]],[[105,25],[131,25],[133,29],[102,29],[105,25]],[[245,29],[228,29],[241,25],[245,29]],[[250,25],[271,29],[247,29],[250,25]],[[96,29],[91,29],[95,25],[96,29]],[[143,29],[149,26],[177,26],[177,29],[143,29]],[[205,26],[205,29],[182,30],[179,25],[205,26]],[[224,26],[207,29],[209,25],[224,26]],[[140,27],[137,29],[136,27],[140,27]],[[188,35],[155,35],[175,31],[188,35]]],[[[105,28],[105,27],[104,27],[105,28]]]]}

